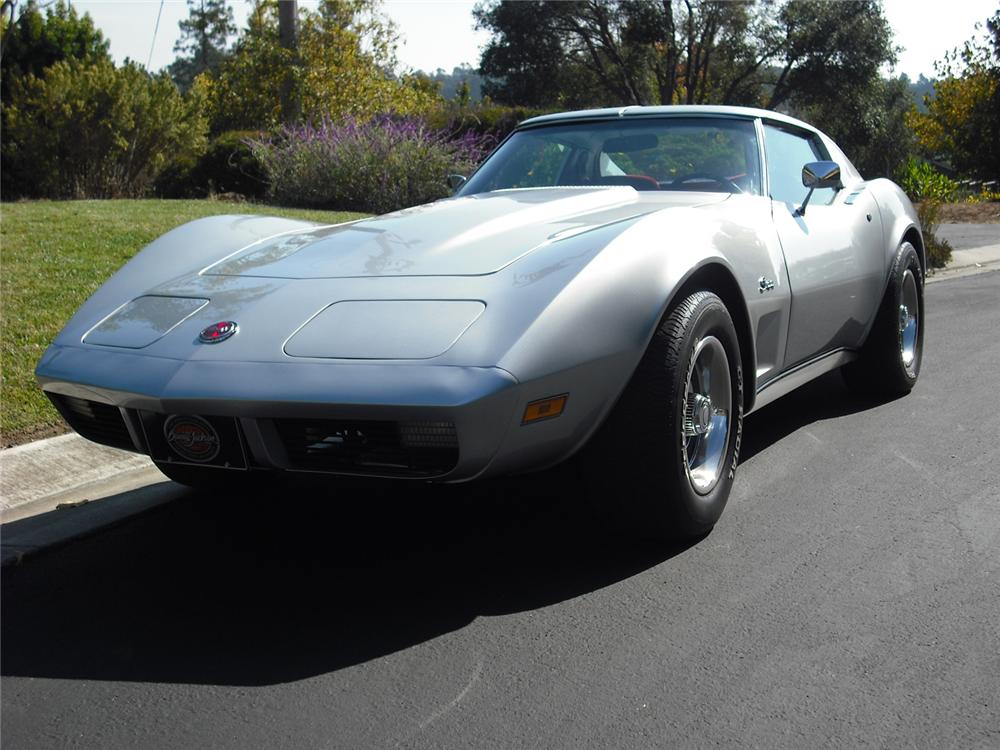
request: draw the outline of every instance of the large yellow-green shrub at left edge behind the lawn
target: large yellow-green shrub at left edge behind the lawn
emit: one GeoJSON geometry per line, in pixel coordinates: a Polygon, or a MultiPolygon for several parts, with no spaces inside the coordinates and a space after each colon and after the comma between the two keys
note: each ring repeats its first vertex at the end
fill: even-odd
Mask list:
{"type": "Polygon", "coordinates": [[[4,108],[4,198],[145,195],[171,159],[205,147],[202,101],[135,64],[57,62],[12,81],[4,108]]]}

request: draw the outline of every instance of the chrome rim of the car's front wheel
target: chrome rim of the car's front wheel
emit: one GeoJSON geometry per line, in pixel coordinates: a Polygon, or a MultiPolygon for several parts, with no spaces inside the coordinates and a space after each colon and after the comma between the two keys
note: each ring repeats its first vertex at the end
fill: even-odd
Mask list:
{"type": "Polygon", "coordinates": [[[688,366],[681,435],[684,469],[699,495],[711,492],[722,476],[732,402],[726,349],[714,336],[706,336],[695,346],[688,366]]]}

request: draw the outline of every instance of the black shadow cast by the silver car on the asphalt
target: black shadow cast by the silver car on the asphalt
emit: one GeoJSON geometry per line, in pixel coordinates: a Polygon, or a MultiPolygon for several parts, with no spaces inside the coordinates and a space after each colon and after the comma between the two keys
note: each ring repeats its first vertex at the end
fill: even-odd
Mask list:
{"type": "MultiPolygon", "coordinates": [[[[863,408],[836,384],[806,386],[748,420],[744,458],[863,408]]],[[[583,596],[685,551],[616,539],[577,481],[557,470],[455,487],[192,492],[5,569],[0,672],[290,682],[583,596]]]]}

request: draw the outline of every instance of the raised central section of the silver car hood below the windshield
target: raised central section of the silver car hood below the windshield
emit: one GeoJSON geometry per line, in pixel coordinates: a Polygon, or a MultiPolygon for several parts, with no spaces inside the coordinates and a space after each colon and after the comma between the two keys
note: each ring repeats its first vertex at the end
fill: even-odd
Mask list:
{"type": "Polygon", "coordinates": [[[283,279],[480,276],[563,237],[671,206],[713,204],[727,197],[631,187],[501,190],[269,237],[202,274],[283,279]]]}

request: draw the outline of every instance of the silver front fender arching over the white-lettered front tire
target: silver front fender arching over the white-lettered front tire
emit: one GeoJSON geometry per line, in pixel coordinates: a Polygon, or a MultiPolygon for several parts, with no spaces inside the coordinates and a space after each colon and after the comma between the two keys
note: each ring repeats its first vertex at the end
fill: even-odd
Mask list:
{"type": "MultiPolygon", "coordinates": [[[[566,412],[525,428],[522,405],[501,457],[511,454],[513,465],[514,458],[543,455],[543,436],[550,462],[582,447],[617,402],[676,295],[703,269],[716,267],[735,280],[739,298],[729,302],[751,320],[777,312],[783,321],[777,330],[787,331],[787,276],[770,214],[761,214],[761,204],[745,206],[757,218],[734,221],[733,208],[740,218],[738,206],[678,208],[631,222],[562,287],[497,364],[522,384],[523,404],[568,392],[566,412]],[[754,289],[762,274],[776,289],[747,304],[747,287],[754,289]]],[[[745,331],[752,350],[754,330],[745,331]]],[[[783,351],[783,340],[775,351],[783,351]]],[[[747,387],[753,383],[748,373],[747,387]]]]}

